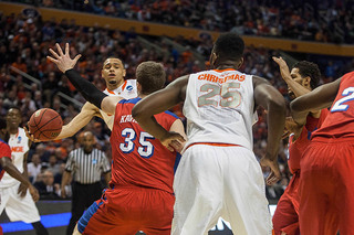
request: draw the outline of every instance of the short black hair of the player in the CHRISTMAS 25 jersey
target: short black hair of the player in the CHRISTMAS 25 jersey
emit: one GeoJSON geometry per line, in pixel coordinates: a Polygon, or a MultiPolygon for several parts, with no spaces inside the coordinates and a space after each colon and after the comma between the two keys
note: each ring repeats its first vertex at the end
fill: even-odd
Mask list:
{"type": "Polygon", "coordinates": [[[221,34],[214,44],[214,52],[221,60],[238,61],[244,50],[243,40],[236,33],[221,34]]]}

